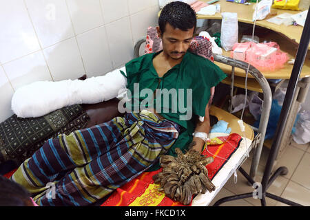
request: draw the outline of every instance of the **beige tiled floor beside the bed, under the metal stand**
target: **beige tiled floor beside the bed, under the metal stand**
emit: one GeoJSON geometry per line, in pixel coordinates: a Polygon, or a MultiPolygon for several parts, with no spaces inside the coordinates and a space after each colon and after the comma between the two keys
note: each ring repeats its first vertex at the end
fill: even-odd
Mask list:
{"type": "MultiPolygon", "coordinates": [[[[269,148],[264,146],[255,179],[257,182],[260,182],[262,179],[268,155],[269,148]]],[[[251,151],[249,159],[242,164],[242,168],[247,173],[249,173],[251,167],[252,157],[253,151],[251,151]]],[[[267,192],[300,203],[303,206],[310,206],[310,144],[296,144],[292,141],[276,162],[273,170],[276,170],[280,166],[286,166],[289,173],[287,175],[280,175],[273,181],[267,192]]],[[[240,172],[237,174],[237,184],[234,184],[234,175],[232,175],[223,189],[220,190],[218,195],[210,203],[210,206],[223,197],[254,191],[254,188],[247,184],[245,177],[240,172]]],[[[287,206],[285,203],[269,198],[266,198],[266,202],[267,206],[287,206]]],[[[223,203],[221,206],[260,206],[260,199],[254,199],[252,197],[239,199],[223,203]]]]}

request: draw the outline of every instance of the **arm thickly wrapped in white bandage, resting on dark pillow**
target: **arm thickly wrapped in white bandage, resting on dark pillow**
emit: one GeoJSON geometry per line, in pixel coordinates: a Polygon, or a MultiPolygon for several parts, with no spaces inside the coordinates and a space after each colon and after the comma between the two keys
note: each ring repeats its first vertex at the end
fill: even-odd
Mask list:
{"type": "Polygon", "coordinates": [[[118,96],[127,79],[115,69],[85,80],[41,81],[20,87],[12,97],[12,110],[20,118],[36,118],[72,104],[95,104],[118,96]]]}

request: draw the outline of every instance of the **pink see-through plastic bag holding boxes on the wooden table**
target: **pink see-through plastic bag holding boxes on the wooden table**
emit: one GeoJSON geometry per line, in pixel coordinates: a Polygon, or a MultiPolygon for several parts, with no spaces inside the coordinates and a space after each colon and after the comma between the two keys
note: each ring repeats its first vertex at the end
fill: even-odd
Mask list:
{"type": "Polygon", "coordinates": [[[252,47],[250,45],[250,42],[236,43],[231,52],[231,57],[238,56],[241,61],[251,63],[251,65],[260,71],[280,69],[289,60],[287,53],[281,52],[276,42],[253,43],[252,47]],[[245,52],[245,59],[241,59],[244,57],[242,56],[244,53],[242,55],[238,54],[240,47],[249,47],[245,52]],[[234,52],[236,49],[237,53],[234,52]]]}

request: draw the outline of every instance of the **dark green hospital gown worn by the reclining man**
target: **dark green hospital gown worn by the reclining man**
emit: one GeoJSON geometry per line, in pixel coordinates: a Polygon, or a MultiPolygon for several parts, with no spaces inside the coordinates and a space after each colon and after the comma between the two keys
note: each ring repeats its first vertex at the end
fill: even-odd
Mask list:
{"type": "MultiPolygon", "coordinates": [[[[138,97],[134,95],[135,83],[139,83],[139,91],[148,88],[152,89],[153,93],[155,89],[167,89],[168,91],[170,91],[170,89],[176,89],[176,91],[183,89],[183,94],[178,92],[176,98],[169,96],[168,102],[164,102],[164,100],[167,101],[167,96],[165,96],[166,98],[163,98],[163,96],[161,97],[162,110],[160,114],[167,120],[172,120],[182,126],[178,139],[168,151],[169,155],[176,156],[174,149],[180,148],[185,152],[187,146],[192,142],[192,133],[196,126],[194,117],[189,118],[189,120],[184,120],[184,118],[180,120],[180,116],[183,115],[184,117],[184,115],[186,115],[187,112],[184,112],[184,110],[187,108],[192,111],[193,116],[205,116],[205,107],[209,102],[210,89],[226,78],[226,74],[224,74],[217,65],[209,61],[207,58],[187,52],[180,64],[169,69],[163,77],[158,77],[152,61],[159,53],[160,52],[145,54],[144,56],[135,58],[125,65],[127,73],[127,89],[133,94],[132,102],[126,103],[126,107],[133,111],[135,108],[137,109],[140,107],[141,103],[145,104],[143,100],[147,98],[146,95],[141,96],[141,94],[138,94],[138,97]],[[192,106],[189,104],[189,107],[187,107],[186,103],[187,89],[192,89],[192,106]],[[184,107],[186,107],[185,109],[176,107],[178,106],[179,98],[181,97],[183,97],[183,104],[184,107]]],[[[159,96],[156,96],[152,103],[154,109],[158,97],[159,96]]],[[[182,100],[182,98],[180,100],[182,100]]],[[[181,107],[183,104],[181,104],[181,107]]],[[[147,104],[144,106],[150,107],[147,106],[147,104]]],[[[152,170],[158,168],[159,164],[156,164],[156,166],[153,166],[152,170]]]]}

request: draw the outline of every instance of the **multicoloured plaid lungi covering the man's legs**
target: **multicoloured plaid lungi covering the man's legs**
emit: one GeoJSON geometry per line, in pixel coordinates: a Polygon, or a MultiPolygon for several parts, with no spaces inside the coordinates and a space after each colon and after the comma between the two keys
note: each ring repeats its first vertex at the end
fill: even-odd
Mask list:
{"type": "Polygon", "coordinates": [[[39,206],[87,206],[131,181],[167,153],[180,126],[154,113],[126,113],[110,122],[50,139],[12,180],[39,206]]]}

